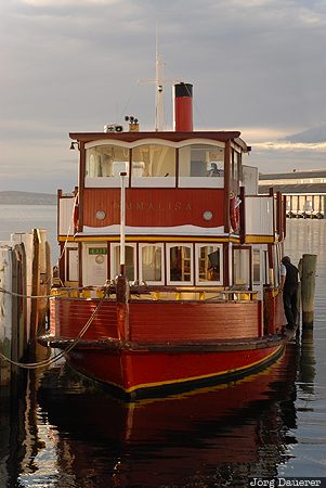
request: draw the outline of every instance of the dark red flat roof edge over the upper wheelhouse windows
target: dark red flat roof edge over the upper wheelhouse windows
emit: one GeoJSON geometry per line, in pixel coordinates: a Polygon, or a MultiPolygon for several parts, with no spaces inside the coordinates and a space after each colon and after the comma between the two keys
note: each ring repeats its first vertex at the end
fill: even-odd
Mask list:
{"type": "Polygon", "coordinates": [[[94,142],[97,140],[118,140],[126,142],[134,142],[141,139],[161,139],[172,142],[181,142],[192,139],[210,139],[219,142],[234,141],[237,145],[242,147],[244,152],[249,152],[251,150],[243,139],[239,138],[239,131],[194,131],[194,132],[174,132],[174,131],[148,131],[148,132],[136,132],[136,131],[126,131],[126,132],[70,132],[70,139],[80,142],[94,142]]]}

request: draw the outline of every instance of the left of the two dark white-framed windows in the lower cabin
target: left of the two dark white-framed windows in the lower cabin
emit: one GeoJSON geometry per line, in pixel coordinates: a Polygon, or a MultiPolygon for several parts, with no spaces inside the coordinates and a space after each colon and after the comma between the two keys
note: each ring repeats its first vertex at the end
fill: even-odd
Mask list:
{"type": "Polygon", "coordinates": [[[193,283],[193,247],[182,244],[167,244],[168,283],[193,283]]]}

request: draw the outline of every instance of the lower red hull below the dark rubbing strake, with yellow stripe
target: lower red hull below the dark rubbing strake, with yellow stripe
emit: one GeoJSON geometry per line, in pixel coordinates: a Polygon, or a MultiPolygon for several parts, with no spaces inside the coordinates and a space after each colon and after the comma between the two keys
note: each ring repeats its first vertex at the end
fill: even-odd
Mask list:
{"type": "Polygon", "coordinates": [[[198,384],[227,383],[275,361],[283,345],[244,350],[108,350],[78,349],[69,363],[80,373],[127,396],[187,389],[198,384]]]}

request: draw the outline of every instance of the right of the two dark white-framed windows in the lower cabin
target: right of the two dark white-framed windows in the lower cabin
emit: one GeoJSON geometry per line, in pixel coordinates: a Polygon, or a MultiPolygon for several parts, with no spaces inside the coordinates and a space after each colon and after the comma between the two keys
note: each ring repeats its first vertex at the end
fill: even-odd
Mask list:
{"type": "Polygon", "coordinates": [[[196,284],[222,284],[222,246],[196,244],[196,284]]]}

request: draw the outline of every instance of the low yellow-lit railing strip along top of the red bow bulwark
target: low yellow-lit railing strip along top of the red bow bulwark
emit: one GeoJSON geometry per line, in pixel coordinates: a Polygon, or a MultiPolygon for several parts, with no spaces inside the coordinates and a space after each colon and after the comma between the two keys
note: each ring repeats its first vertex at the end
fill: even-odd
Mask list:
{"type": "MultiPolygon", "coordinates": [[[[223,290],[213,287],[193,286],[154,286],[154,285],[130,285],[130,300],[154,300],[154,301],[257,301],[258,292],[251,290],[223,290]]],[[[116,286],[83,286],[83,287],[53,287],[53,298],[103,298],[116,299],[116,286]]]]}

